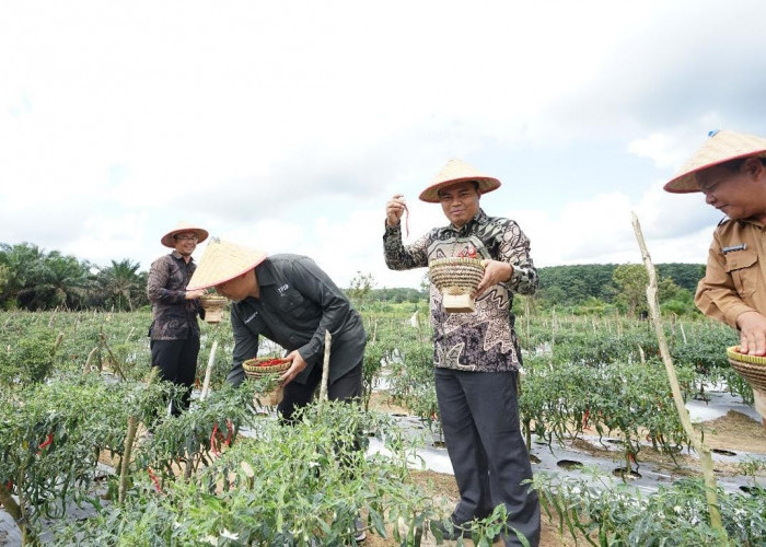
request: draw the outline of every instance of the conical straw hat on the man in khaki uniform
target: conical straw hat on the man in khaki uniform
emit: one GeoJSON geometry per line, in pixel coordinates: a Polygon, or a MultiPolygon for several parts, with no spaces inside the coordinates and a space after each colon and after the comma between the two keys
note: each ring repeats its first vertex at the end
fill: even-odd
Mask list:
{"type": "Polygon", "coordinates": [[[761,137],[733,131],[710,131],[708,135],[701,148],[675,177],[665,184],[665,190],[675,194],[699,191],[696,176],[698,172],[740,158],[766,158],[766,139],[761,137]]]}

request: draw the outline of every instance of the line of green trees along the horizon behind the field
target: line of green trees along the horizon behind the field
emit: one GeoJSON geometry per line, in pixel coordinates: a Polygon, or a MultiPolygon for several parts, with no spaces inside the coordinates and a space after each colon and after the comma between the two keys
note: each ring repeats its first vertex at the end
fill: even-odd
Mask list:
{"type": "MultiPolygon", "coordinates": [[[[701,264],[659,264],[660,302],[665,311],[695,313],[693,296],[705,275],[701,264]]],[[[115,310],[148,305],[148,272],[130,258],[98,266],[37,245],[0,243],[0,309],[115,310]]],[[[629,315],[646,310],[647,272],[638,264],[587,264],[538,268],[535,305],[600,313],[605,306],[629,315]]],[[[419,289],[376,288],[372,274],[357,272],[347,289],[356,302],[411,302],[428,298],[428,278],[419,289]]]]}

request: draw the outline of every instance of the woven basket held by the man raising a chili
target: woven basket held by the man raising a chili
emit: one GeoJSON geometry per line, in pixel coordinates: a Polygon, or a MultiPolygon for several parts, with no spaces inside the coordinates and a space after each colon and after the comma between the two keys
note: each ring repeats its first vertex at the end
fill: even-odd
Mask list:
{"type": "Polygon", "coordinates": [[[428,265],[431,282],[442,294],[446,313],[476,311],[474,296],[484,277],[484,264],[478,258],[438,258],[428,265]]]}

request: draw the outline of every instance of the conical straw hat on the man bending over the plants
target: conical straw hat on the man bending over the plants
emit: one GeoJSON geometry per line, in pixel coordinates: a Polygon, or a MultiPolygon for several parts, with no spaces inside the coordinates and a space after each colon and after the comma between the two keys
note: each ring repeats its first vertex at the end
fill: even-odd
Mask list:
{"type": "Polygon", "coordinates": [[[245,271],[252,270],[265,258],[264,251],[254,251],[212,237],[208,246],[205,247],[202,258],[199,260],[194,276],[189,279],[186,290],[194,291],[225,283],[245,271]]]}

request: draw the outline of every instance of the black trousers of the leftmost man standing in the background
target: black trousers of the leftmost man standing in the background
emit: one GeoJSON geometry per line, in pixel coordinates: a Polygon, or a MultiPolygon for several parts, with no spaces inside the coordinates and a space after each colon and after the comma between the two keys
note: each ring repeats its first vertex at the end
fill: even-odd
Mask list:
{"type": "Polygon", "coordinates": [[[160,369],[160,379],[185,387],[179,406],[173,405],[171,414],[178,416],[189,407],[192,386],[197,376],[199,337],[186,340],[151,340],[152,366],[160,369]]]}

